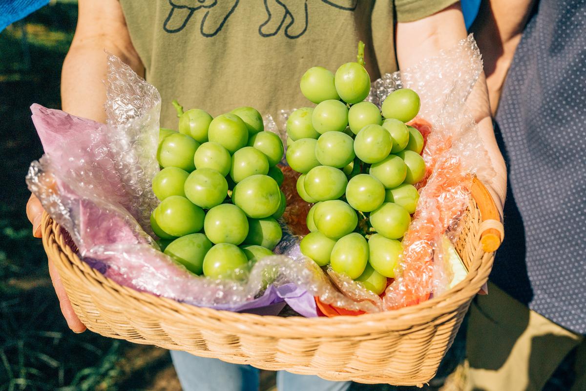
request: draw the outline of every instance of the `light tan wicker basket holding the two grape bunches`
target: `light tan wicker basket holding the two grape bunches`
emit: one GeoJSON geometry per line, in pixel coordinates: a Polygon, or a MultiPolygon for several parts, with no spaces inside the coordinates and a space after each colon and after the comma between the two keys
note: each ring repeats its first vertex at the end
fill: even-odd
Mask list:
{"type": "Polygon", "coordinates": [[[472,298],[488,279],[502,239],[495,204],[479,181],[472,195],[456,245],[469,269],[466,279],[436,299],[377,314],[260,316],[141,293],[82,262],[46,214],[43,246],[76,314],[105,337],[330,380],[421,385],[435,375],[472,298]]]}

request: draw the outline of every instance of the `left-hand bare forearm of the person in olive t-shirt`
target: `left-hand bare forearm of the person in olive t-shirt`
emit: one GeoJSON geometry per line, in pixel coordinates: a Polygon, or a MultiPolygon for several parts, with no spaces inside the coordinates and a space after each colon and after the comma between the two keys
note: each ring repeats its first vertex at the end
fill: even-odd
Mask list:
{"type": "Polygon", "coordinates": [[[120,57],[139,75],[144,75],[144,67],[132,47],[118,1],[82,0],[79,2],[76,33],[61,74],[64,111],[105,122],[107,59],[104,50],[120,57]]]}

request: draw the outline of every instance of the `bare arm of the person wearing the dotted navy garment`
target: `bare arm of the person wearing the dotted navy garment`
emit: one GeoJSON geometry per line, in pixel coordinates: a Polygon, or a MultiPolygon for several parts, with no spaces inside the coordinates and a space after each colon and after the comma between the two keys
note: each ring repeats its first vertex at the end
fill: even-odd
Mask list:
{"type": "Polygon", "coordinates": [[[483,1],[471,31],[482,53],[492,114],[534,0],[483,1]]]}

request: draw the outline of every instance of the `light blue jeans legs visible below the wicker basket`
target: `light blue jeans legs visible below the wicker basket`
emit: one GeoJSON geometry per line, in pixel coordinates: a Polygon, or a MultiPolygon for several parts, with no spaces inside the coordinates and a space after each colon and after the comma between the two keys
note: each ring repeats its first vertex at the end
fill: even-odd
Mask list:
{"type": "MultiPolygon", "coordinates": [[[[171,351],[183,391],[258,391],[259,369],[215,358],[171,351]]],[[[331,382],[318,376],[277,372],[279,391],[347,391],[351,382],[331,382]]]]}

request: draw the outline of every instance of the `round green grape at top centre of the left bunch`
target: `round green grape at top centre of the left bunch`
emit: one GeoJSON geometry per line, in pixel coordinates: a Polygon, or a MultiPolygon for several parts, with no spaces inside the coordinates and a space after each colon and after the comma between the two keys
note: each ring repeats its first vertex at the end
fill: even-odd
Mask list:
{"type": "Polygon", "coordinates": [[[248,129],[236,114],[222,114],[212,120],[207,136],[210,141],[222,145],[232,154],[246,146],[248,129]]]}

